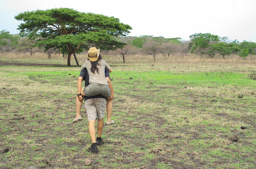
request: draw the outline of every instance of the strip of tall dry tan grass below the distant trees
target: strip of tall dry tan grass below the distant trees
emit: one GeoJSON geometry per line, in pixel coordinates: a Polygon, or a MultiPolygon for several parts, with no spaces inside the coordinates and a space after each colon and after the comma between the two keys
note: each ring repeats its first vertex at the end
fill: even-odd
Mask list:
{"type": "MultiPolygon", "coordinates": [[[[20,53],[20,52],[1,52],[1,58],[6,59],[48,59],[46,53],[34,53],[32,56],[29,53],[20,53]]],[[[84,61],[86,58],[86,53],[78,53],[76,54],[78,61],[84,61]]],[[[73,56],[71,57],[74,58],[73,56]]],[[[105,60],[108,60],[112,63],[122,63],[122,55],[103,55],[105,60]]],[[[51,59],[64,59],[62,54],[52,54],[51,59]]],[[[207,56],[200,56],[196,54],[186,53],[182,58],[180,53],[175,53],[170,55],[168,58],[164,55],[157,55],[156,62],[154,62],[153,57],[151,55],[125,55],[126,63],[223,63],[223,64],[256,64],[256,56],[250,55],[245,59],[238,55],[230,55],[226,56],[225,59],[220,55],[216,55],[213,59],[208,58],[207,56]]]]}

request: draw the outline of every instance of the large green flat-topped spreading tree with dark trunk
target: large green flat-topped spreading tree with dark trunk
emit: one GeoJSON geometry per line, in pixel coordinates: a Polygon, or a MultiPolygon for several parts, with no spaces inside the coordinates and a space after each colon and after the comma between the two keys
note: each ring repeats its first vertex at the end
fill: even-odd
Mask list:
{"type": "Polygon", "coordinates": [[[69,8],[36,10],[15,16],[23,21],[18,29],[22,37],[36,39],[45,50],[61,49],[68,53],[68,66],[72,53],[82,52],[90,46],[102,50],[115,50],[126,43],[115,37],[130,33],[131,26],[120,23],[118,18],[100,14],[78,12],[69,8]]]}

